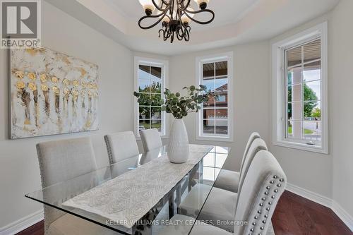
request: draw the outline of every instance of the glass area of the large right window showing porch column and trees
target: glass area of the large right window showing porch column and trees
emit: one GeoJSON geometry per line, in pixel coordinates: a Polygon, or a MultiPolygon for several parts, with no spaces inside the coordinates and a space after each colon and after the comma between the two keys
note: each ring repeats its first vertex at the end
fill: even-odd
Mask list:
{"type": "Polygon", "coordinates": [[[286,137],[321,141],[321,40],[287,49],[286,137]]]}

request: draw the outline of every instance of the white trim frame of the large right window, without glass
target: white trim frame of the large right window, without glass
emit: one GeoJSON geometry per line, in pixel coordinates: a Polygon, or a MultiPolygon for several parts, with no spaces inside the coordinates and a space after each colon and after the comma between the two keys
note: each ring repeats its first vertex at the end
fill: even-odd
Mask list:
{"type": "Polygon", "coordinates": [[[273,145],[328,154],[328,24],[327,22],[299,32],[272,45],[273,76],[273,145]],[[311,38],[321,37],[321,146],[285,140],[285,59],[284,50],[311,38]]]}

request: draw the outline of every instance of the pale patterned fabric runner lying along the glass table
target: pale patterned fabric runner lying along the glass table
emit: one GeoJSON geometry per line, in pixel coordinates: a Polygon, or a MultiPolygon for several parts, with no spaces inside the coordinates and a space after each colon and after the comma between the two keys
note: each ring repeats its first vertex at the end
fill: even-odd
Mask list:
{"type": "Polygon", "coordinates": [[[190,145],[186,163],[173,164],[167,155],[143,164],[62,205],[92,212],[128,229],[154,207],[213,146],[190,145]]]}

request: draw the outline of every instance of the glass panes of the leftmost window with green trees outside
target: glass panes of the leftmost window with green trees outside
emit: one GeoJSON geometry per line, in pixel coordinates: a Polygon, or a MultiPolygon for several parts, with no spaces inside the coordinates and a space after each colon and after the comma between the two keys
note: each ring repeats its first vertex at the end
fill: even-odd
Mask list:
{"type": "Polygon", "coordinates": [[[138,69],[138,92],[140,102],[138,106],[139,131],[157,128],[163,132],[161,111],[162,101],[162,68],[140,65],[138,69]]]}

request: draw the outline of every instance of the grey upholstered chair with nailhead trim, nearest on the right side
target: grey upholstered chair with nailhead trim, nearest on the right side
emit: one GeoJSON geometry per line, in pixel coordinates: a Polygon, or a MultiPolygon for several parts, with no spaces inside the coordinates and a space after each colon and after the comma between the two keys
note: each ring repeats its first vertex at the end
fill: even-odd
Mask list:
{"type": "MultiPolygon", "coordinates": [[[[225,222],[233,222],[232,229],[229,229],[232,234],[274,234],[271,223],[271,217],[275,211],[275,207],[280,199],[280,196],[285,191],[287,177],[285,172],[280,167],[273,155],[261,150],[256,154],[251,162],[249,171],[245,176],[244,185],[237,195],[238,206],[234,211],[234,216],[229,217],[225,222]],[[241,223],[242,222],[242,223],[241,223]]],[[[213,188],[205,202],[203,210],[210,207],[218,207],[220,200],[217,202],[210,201],[210,198],[222,198],[218,193],[225,191],[220,188],[213,188]],[[215,204],[214,204],[215,203],[215,204]]],[[[229,191],[225,191],[231,193],[229,191]]],[[[222,199],[225,200],[225,199],[222,199]]],[[[234,203],[234,202],[233,202],[234,203]]],[[[201,211],[198,220],[205,220],[205,214],[201,211]]],[[[193,217],[186,215],[175,215],[172,217],[172,222],[169,226],[164,227],[160,234],[181,235],[190,231],[193,217]]],[[[219,223],[210,221],[210,224],[202,222],[196,223],[191,231],[191,235],[206,234],[231,234],[220,227],[219,223]],[[217,227],[216,227],[217,226],[217,227]]],[[[228,230],[228,229],[227,229],[228,230]]]]}

